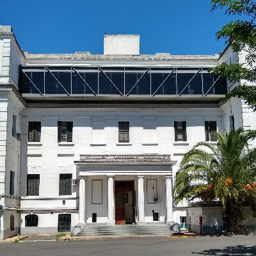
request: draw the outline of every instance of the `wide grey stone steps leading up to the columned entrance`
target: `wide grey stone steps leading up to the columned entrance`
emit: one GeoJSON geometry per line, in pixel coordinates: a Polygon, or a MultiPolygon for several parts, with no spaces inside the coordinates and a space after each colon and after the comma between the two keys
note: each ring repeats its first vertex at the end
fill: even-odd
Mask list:
{"type": "Polygon", "coordinates": [[[165,224],[145,225],[87,225],[77,236],[170,236],[173,232],[165,224]]]}

